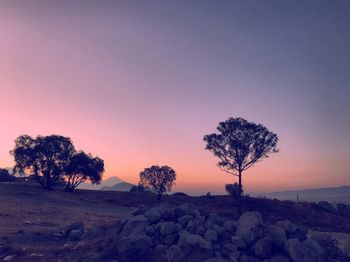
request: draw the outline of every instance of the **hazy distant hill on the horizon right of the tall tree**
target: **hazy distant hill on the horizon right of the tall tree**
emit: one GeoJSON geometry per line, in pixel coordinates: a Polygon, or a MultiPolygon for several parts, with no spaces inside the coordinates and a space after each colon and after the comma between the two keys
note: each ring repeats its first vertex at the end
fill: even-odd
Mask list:
{"type": "Polygon", "coordinates": [[[299,195],[300,201],[328,201],[350,203],[350,186],[290,190],[253,195],[293,201],[296,201],[299,195]]]}

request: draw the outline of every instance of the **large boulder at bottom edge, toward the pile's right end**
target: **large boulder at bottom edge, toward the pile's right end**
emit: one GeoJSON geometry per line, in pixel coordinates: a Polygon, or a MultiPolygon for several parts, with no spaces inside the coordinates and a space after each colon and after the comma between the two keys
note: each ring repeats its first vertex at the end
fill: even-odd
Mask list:
{"type": "Polygon", "coordinates": [[[300,242],[298,239],[289,239],[285,243],[285,250],[293,262],[322,262],[324,261],[321,246],[313,240],[300,242]]]}

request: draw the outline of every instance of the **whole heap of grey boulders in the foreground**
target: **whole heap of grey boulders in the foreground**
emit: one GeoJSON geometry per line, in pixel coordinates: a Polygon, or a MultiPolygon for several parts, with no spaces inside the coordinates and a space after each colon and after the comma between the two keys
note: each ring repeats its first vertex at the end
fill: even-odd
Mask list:
{"type": "Polygon", "coordinates": [[[307,237],[290,221],[267,225],[258,212],[234,221],[191,204],[140,206],[117,234],[118,261],[349,261],[333,244],[307,237]]]}

